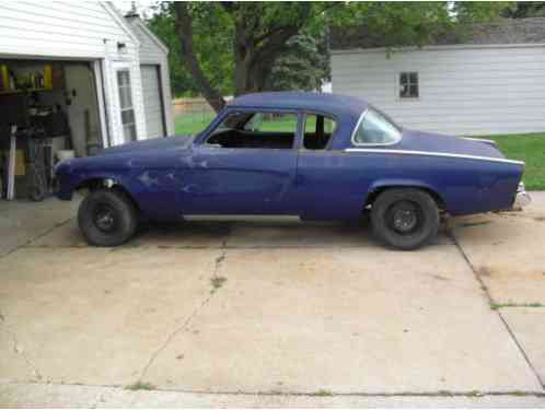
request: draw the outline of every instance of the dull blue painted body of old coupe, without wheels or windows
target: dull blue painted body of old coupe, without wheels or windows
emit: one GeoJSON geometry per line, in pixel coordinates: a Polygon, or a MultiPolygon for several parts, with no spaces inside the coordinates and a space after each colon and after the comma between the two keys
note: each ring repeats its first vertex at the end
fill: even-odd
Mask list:
{"type": "Polygon", "coordinates": [[[346,152],[367,103],[337,95],[282,93],[234,99],[197,138],[139,141],[74,159],[57,168],[59,197],[92,178],[113,178],[134,197],[146,216],[176,220],[182,214],[291,214],[302,219],[359,219],[370,194],[393,186],[434,192],[452,214],[510,208],[523,165],[475,161],[466,155],[501,159],[496,147],[478,141],[405,130],[401,141],[372,152],[346,152]],[[206,141],[233,110],[267,108],[297,112],[300,125],[292,149],[224,149],[206,141]],[[336,104],[343,99],[345,104],[336,104]],[[351,104],[349,104],[351,103],[351,104]],[[299,104],[299,105],[298,105],[299,104]],[[334,116],[338,127],[326,150],[302,147],[302,113],[334,116]],[[391,150],[424,152],[398,155],[391,150]],[[451,153],[429,156],[426,152],[451,153]]]}

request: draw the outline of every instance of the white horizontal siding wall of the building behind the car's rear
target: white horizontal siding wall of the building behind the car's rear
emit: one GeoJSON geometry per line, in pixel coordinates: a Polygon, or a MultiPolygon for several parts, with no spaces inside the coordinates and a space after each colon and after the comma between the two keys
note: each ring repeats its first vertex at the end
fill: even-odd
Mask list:
{"type": "Polygon", "coordinates": [[[545,47],[437,46],[334,51],[333,92],[368,99],[407,128],[452,134],[545,130],[545,47]],[[399,99],[416,71],[419,98],[399,99]]]}

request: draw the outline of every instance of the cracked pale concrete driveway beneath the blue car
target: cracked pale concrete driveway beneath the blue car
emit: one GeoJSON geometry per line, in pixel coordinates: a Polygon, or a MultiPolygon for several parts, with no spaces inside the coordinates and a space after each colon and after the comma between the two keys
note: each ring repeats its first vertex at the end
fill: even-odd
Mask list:
{"type": "Polygon", "coordinates": [[[2,206],[0,406],[545,406],[533,197],[413,253],[288,222],[90,248],[73,203],[2,206]]]}

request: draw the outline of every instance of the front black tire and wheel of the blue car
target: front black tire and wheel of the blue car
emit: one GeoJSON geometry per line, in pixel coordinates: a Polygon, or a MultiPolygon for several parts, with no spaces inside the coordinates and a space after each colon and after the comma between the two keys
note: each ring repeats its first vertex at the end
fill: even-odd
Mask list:
{"type": "Polygon", "coordinates": [[[97,189],[81,202],[78,223],[90,245],[117,246],[135,234],[138,212],[123,191],[97,189]]]}

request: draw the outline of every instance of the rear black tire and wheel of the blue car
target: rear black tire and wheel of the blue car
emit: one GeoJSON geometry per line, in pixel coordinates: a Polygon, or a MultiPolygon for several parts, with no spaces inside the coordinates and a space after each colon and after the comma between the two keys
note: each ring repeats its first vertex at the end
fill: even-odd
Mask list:
{"type": "Polygon", "coordinates": [[[387,189],[371,208],[374,235],[403,250],[426,245],[439,231],[439,209],[429,194],[419,189],[387,189]]]}

